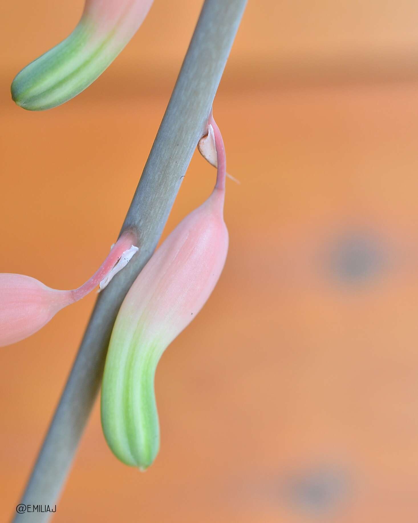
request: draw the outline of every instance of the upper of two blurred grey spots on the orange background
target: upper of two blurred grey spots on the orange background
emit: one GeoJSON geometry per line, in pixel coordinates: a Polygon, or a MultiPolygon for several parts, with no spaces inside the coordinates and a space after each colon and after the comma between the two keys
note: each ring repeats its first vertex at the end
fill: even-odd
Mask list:
{"type": "Polygon", "coordinates": [[[345,233],[333,241],[328,268],[341,283],[357,285],[376,277],[385,264],[384,249],[367,233],[345,233]]]}

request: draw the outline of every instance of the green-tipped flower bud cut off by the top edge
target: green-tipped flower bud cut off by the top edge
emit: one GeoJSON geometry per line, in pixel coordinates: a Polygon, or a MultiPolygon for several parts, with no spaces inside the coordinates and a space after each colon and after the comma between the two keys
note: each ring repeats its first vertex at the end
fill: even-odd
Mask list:
{"type": "Polygon", "coordinates": [[[153,0],[86,0],[74,31],[22,69],[11,84],[17,105],[51,109],[74,98],[113,62],[142,24],[153,0]]]}

